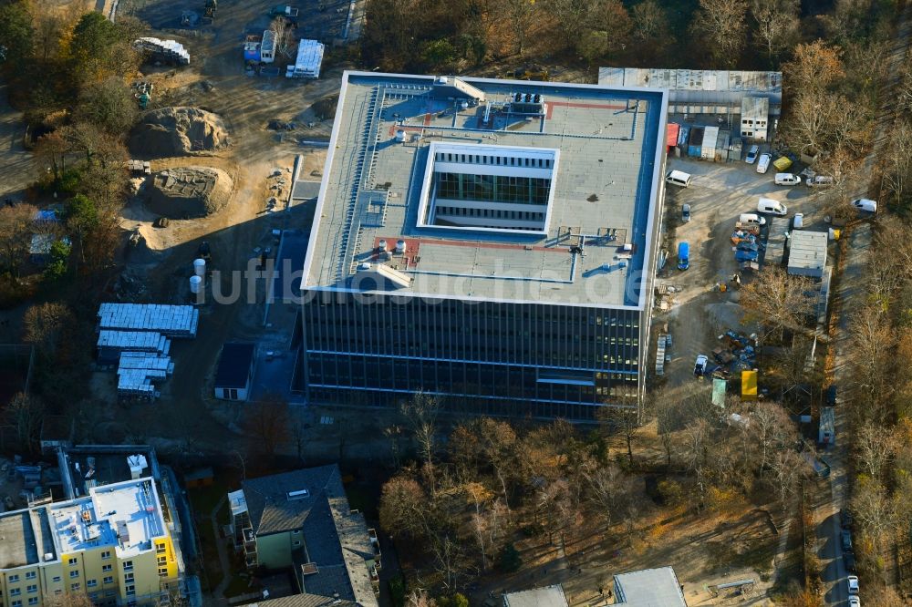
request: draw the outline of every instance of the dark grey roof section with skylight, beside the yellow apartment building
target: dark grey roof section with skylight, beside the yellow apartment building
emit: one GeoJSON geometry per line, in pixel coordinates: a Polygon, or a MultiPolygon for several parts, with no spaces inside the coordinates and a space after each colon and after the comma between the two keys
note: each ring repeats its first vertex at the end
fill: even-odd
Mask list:
{"type": "Polygon", "coordinates": [[[328,485],[342,486],[337,465],[304,468],[271,477],[245,480],[241,487],[247,499],[250,522],[256,535],[301,529],[307,515],[328,485]],[[307,489],[306,498],[288,499],[288,493],[307,489]]]}

